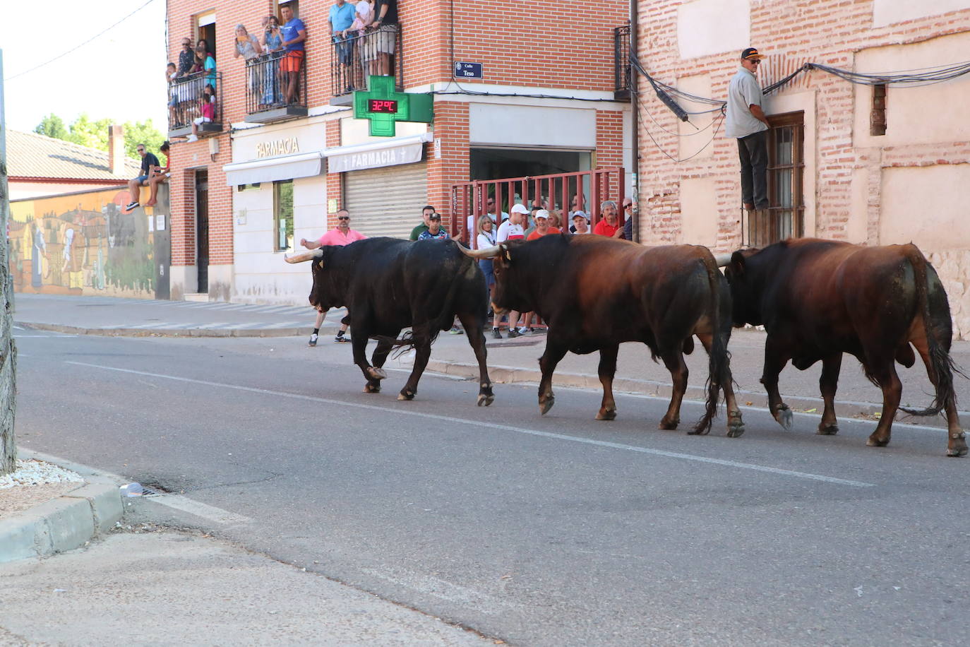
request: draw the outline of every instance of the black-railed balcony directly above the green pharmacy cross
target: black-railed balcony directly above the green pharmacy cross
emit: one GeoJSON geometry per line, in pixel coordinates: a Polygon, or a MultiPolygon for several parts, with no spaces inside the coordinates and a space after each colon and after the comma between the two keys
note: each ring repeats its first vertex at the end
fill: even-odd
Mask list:
{"type": "Polygon", "coordinates": [[[403,60],[401,25],[394,27],[386,25],[363,34],[348,32],[346,39],[333,43],[330,68],[332,105],[349,106],[353,101],[353,92],[368,89],[368,77],[371,75],[390,75],[395,78],[395,89],[404,91],[404,79],[400,74],[403,60]]]}

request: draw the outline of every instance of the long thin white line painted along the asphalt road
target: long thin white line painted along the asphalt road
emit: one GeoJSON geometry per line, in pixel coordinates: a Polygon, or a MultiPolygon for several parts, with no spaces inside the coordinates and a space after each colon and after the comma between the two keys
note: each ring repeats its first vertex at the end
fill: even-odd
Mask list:
{"type": "MultiPolygon", "coordinates": [[[[65,364],[89,367],[91,369],[103,369],[105,371],[126,372],[133,375],[147,375],[149,377],[160,377],[162,379],[172,379],[178,382],[188,382],[190,384],[203,384],[206,386],[216,386],[223,389],[236,389],[238,391],[246,391],[249,393],[259,393],[267,396],[275,396],[275,397],[281,397],[281,398],[292,398],[294,400],[305,400],[313,403],[335,404],[341,407],[367,409],[370,411],[380,411],[382,413],[387,413],[389,410],[392,410],[392,409],[389,409],[386,405],[377,406],[374,404],[348,403],[342,400],[332,400],[330,398],[317,398],[314,396],[305,396],[297,393],[287,393],[285,391],[272,391],[270,389],[260,389],[253,386],[241,386],[239,384],[226,384],[224,382],[212,382],[206,379],[193,379],[191,377],[181,377],[179,375],[166,375],[164,373],[157,373],[157,372],[134,371],[132,369],[118,369],[115,367],[103,366],[100,364],[88,364],[86,362],[65,361],[65,364]]],[[[524,434],[527,436],[555,438],[557,440],[568,440],[570,442],[580,442],[588,445],[596,445],[598,447],[610,447],[612,449],[624,449],[626,451],[637,452],[640,454],[663,456],[664,458],[676,458],[684,461],[695,461],[697,463],[706,463],[708,465],[720,465],[727,468],[751,469],[753,471],[763,471],[770,474],[778,474],[780,476],[790,476],[792,478],[804,478],[804,479],[813,480],[813,481],[822,481],[824,483],[832,483],[835,485],[848,485],[856,488],[875,487],[875,483],[865,483],[863,481],[853,481],[845,478],[835,478],[833,476],[824,476],[823,474],[813,474],[806,471],[768,468],[765,466],[755,465],[752,463],[738,463],[737,461],[727,461],[725,459],[719,459],[719,458],[708,458],[706,456],[696,456],[695,454],[682,454],[680,452],[671,452],[663,449],[649,449],[647,447],[637,447],[636,445],[627,445],[621,442],[609,442],[607,440],[596,440],[593,438],[566,436],[565,434],[554,434],[552,432],[540,432],[535,429],[525,429],[523,427],[512,427],[510,425],[498,425],[495,423],[482,422],[479,420],[468,420],[466,418],[455,418],[447,415],[437,415],[436,413],[424,413],[422,411],[406,411],[404,409],[393,409],[393,411],[401,415],[410,415],[410,416],[416,416],[420,418],[428,418],[431,420],[440,420],[442,422],[450,422],[450,423],[455,423],[459,425],[471,425],[474,427],[484,427],[486,429],[501,429],[503,431],[515,432],[516,434],[524,434]]]]}

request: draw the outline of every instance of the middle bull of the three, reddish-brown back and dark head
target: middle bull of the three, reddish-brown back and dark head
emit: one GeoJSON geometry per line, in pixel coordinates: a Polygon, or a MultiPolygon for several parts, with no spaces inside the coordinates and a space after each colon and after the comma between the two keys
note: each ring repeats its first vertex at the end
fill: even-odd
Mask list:
{"type": "Polygon", "coordinates": [[[598,420],[616,417],[613,375],[620,343],[642,341],[670,371],[673,393],[661,429],[675,429],[687,391],[684,352],[692,336],[710,356],[707,405],[695,434],[710,431],[718,396],[725,392],[727,436],[744,433],[734,400],[727,355],[730,304],[727,282],[706,247],[643,247],[600,236],[551,235],[530,243],[501,243],[467,251],[494,258],[497,280],[494,307],[534,311],[549,325],[545,352],[539,359],[539,410],[555,399],[552,374],[567,351],[599,351],[603,398],[598,420]]]}

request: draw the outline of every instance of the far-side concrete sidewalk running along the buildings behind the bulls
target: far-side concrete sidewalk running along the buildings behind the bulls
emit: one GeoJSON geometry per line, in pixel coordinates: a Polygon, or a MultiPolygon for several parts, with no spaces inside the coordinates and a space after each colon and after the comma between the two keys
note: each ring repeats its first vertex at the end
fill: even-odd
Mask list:
{"type": "MultiPolygon", "coordinates": [[[[332,335],[339,326],[344,310],[327,313],[321,336],[332,335]]],[[[315,313],[310,307],[261,306],[248,304],[149,301],[111,297],[64,297],[51,295],[16,295],[14,315],[16,335],[29,330],[49,330],[84,335],[133,335],[152,337],[292,337],[309,335],[315,313]]],[[[353,329],[350,331],[353,336],[353,329]]],[[[537,382],[540,376],[538,358],[545,347],[545,336],[488,341],[489,373],[496,382],[537,382]]],[[[731,370],[738,385],[742,405],[764,406],[766,396],[760,385],[764,356],[764,333],[735,330],[728,346],[731,370]],[[750,404],[749,404],[750,403],[750,404]]],[[[349,345],[349,344],[347,344],[349,345]]],[[[347,349],[349,354],[349,349],[347,349]]],[[[952,355],[959,367],[970,369],[970,342],[955,341],[952,355]]],[[[687,397],[702,400],[707,374],[707,355],[699,344],[688,356],[691,372],[687,397]]],[[[554,383],[599,390],[598,353],[567,354],[559,364],[554,383]]],[[[897,365],[903,381],[903,404],[921,407],[932,400],[932,386],[918,360],[912,369],[897,365]]],[[[476,379],[478,369],[464,335],[438,336],[432,349],[429,371],[444,372],[476,379]]],[[[819,393],[821,363],[800,372],[791,365],[782,372],[781,392],[793,408],[821,415],[819,393]],[[812,409],[816,409],[813,411],[812,409]]],[[[957,401],[970,402],[970,380],[957,376],[954,382],[957,401]]],[[[670,374],[663,364],[650,359],[643,344],[626,343],[614,382],[617,391],[668,397],[670,374]]],[[[842,364],[836,412],[841,416],[871,417],[882,409],[882,392],[862,375],[853,357],[842,364]]],[[[925,425],[945,426],[942,416],[915,418],[903,414],[900,419],[925,425]]],[[[967,414],[970,420],[970,414],[967,414]]]]}

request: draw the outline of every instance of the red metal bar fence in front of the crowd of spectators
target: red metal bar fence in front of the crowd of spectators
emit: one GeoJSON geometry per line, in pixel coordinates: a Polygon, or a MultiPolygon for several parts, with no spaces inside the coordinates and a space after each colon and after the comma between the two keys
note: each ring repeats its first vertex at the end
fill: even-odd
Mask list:
{"type": "MultiPolygon", "coordinates": [[[[591,220],[590,226],[595,227],[599,221],[599,205],[606,200],[612,200],[616,202],[617,215],[622,225],[624,213],[621,206],[625,197],[626,179],[623,167],[550,176],[458,182],[451,185],[448,231],[464,232],[462,240],[474,246],[474,226],[472,224],[469,236],[468,218],[473,215],[471,222],[475,223],[485,213],[494,211],[486,206],[486,201],[490,198],[498,206],[497,213],[507,213],[515,204],[523,204],[530,209],[536,207],[557,210],[560,214],[560,225],[566,230],[572,224],[569,215],[574,210],[585,211],[591,220]]],[[[501,223],[501,217],[497,221],[501,223]]]]}

